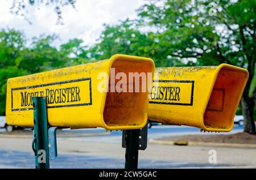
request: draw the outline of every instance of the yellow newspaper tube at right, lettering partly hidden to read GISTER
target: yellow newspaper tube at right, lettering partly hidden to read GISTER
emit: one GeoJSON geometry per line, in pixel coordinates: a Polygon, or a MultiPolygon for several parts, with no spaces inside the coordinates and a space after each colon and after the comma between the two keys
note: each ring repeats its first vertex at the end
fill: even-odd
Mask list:
{"type": "Polygon", "coordinates": [[[156,68],[148,119],[204,131],[229,132],[248,71],[227,64],[156,68]]]}

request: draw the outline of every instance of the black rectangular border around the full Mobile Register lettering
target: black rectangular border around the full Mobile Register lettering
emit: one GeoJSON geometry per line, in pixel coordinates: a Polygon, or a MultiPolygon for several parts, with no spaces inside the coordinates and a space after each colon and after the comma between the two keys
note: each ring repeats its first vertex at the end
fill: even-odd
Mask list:
{"type": "Polygon", "coordinates": [[[47,106],[49,108],[67,108],[73,106],[89,106],[92,105],[92,79],[91,78],[81,78],[81,79],[74,79],[74,80],[66,80],[63,82],[55,82],[55,83],[48,83],[48,84],[41,84],[41,85],[32,85],[28,87],[19,87],[19,88],[11,88],[11,111],[21,111],[21,110],[32,110],[33,108],[23,108],[23,109],[13,109],[13,91],[22,90],[22,89],[31,89],[31,88],[39,88],[39,87],[46,87],[50,85],[57,85],[57,84],[67,84],[67,83],[75,83],[75,82],[82,82],[89,80],[89,93],[90,93],[90,102],[89,103],[82,103],[82,104],[71,104],[71,105],[59,105],[59,106],[47,106]]]}

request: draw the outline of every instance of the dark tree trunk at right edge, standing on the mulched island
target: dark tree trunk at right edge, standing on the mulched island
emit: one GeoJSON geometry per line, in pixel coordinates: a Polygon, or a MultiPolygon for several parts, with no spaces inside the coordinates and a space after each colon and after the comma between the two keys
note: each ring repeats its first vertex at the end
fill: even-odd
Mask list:
{"type": "Polygon", "coordinates": [[[254,105],[255,105],[254,98],[250,98],[248,95],[246,95],[246,92],[244,92],[241,99],[241,105],[242,105],[242,114],[243,114],[243,117],[245,118],[243,131],[248,132],[250,134],[256,134],[254,117],[253,117],[253,111],[254,111],[254,105]]]}

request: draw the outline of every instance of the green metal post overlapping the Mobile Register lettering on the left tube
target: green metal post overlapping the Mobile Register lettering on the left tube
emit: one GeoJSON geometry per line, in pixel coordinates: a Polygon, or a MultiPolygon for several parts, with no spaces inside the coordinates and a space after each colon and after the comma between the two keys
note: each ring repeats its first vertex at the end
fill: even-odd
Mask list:
{"type": "Polygon", "coordinates": [[[35,168],[49,169],[48,125],[45,97],[33,97],[35,168]]]}

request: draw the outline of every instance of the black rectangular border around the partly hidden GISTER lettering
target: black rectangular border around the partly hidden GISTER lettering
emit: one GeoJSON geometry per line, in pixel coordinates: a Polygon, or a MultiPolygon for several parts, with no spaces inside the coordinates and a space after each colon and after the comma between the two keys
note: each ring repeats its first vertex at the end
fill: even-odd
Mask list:
{"type": "Polygon", "coordinates": [[[193,97],[194,97],[194,80],[153,80],[154,83],[191,83],[191,98],[190,103],[179,103],[179,102],[155,102],[149,101],[150,104],[166,104],[166,105],[183,105],[183,106],[193,106],[193,97]]]}

